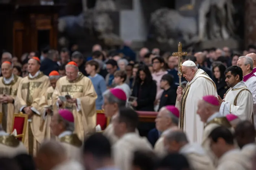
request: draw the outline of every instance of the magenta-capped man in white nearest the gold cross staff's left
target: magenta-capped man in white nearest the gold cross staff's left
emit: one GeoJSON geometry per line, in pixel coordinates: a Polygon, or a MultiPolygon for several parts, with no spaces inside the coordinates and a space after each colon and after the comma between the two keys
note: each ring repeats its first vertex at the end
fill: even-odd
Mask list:
{"type": "Polygon", "coordinates": [[[180,111],[175,106],[164,106],[160,109],[156,117],[156,129],[162,133],[156,141],[154,152],[163,157],[167,154],[164,148],[163,132],[172,127],[178,127],[180,111]]]}

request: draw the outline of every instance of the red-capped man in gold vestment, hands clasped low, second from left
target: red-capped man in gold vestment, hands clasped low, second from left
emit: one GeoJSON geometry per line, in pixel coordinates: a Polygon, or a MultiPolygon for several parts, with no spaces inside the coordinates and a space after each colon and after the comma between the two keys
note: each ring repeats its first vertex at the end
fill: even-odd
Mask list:
{"type": "Polygon", "coordinates": [[[45,76],[39,68],[40,60],[38,57],[32,57],[28,62],[29,75],[20,81],[15,99],[15,107],[28,114],[24,145],[31,155],[36,154],[37,148],[44,140],[44,132],[40,126],[43,122],[42,112],[40,112],[42,109],[38,103],[50,86],[48,76],[45,76]]]}

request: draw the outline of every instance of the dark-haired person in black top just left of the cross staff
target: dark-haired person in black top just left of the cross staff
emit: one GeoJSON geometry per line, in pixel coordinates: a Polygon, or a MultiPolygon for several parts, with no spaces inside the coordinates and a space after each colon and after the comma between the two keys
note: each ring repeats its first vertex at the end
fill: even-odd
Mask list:
{"type": "Polygon", "coordinates": [[[164,89],[162,96],[160,98],[159,109],[167,105],[175,105],[177,93],[176,89],[172,87],[173,85],[173,76],[170,74],[166,74],[162,76],[160,81],[160,88],[164,89]]]}

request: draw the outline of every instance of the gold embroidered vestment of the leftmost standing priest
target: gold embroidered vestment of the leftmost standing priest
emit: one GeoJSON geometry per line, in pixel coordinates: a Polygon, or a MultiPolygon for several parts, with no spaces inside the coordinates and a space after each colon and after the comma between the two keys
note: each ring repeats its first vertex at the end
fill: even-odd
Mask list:
{"type": "MultiPolygon", "coordinates": [[[[21,77],[13,75],[13,80],[7,84],[3,77],[0,77],[0,95],[11,95],[15,100],[21,77]]],[[[19,113],[13,103],[0,103],[0,112],[3,114],[2,126],[7,133],[12,132],[13,114],[19,113]]]]}

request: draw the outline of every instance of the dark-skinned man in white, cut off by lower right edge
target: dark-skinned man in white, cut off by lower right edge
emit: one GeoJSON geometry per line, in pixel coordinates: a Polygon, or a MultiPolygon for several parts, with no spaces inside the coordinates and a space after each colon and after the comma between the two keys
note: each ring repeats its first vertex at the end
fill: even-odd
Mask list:
{"type": "Polygon", "coordinates": [[[250,121],[242,121],[235,128],[237,144],[241,148],[241,153],[248,156],[251,161],[256,153],[255,130],[250,121]]]}

